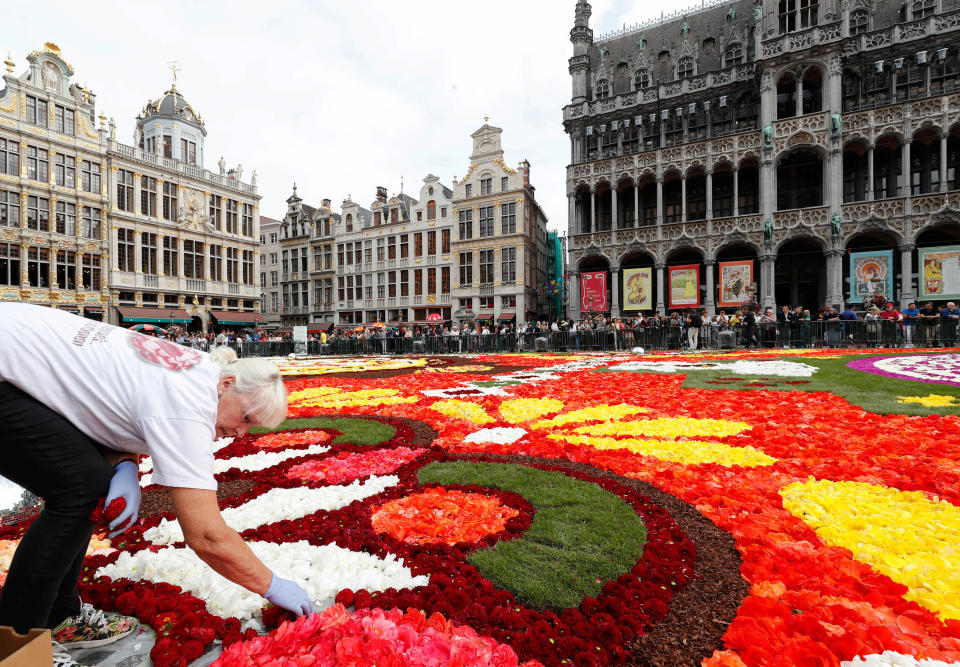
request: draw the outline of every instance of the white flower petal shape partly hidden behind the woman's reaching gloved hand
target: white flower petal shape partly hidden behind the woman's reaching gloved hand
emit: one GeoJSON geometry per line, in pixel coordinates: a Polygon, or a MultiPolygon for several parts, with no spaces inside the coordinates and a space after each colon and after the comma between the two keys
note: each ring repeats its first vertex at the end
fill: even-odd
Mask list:
{"type": "MultiPolygon", "coordinates": [[[[414,577],[403,565],[403,559],[393,554],[378,558],[336,544],[318,547],[305,541],[248,544],[277,576],[303,586],[318,611],[333,604],[332,598],[343,588],[383,591],[429,583],[428,577],[414,577]]],[[[143,550],[136,554],[125,552],[116,563],[97,570],[97,576],[169,582],[206,602],[211,614],[236,616],[241,621],[259,617],[265,604],[258,594],[224,579],[186,548],[167,547],[157,552],[143,550]]]]}

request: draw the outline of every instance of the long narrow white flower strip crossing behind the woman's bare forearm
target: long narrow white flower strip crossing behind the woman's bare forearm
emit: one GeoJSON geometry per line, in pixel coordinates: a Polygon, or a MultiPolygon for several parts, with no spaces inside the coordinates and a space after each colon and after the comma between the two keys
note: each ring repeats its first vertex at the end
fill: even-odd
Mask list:
{"type": "MultiPolygon", "coordinates": [[[[319,489],[298,486],[292,489],[270,489],[240,507],[230,507],[220,512],[227,525],[243,532],[284,519],[299,519],[318,510],[336,510],[355,500],[375,496],[400,482],[396,475],[373,475],[365,482],[355,480],[350,484],[325,486],[319,489]]],[[[155,528],[144,534],[154,544],[173,544],[183,541],[183,531],[177,520],[163,519],[155,528]]]]}

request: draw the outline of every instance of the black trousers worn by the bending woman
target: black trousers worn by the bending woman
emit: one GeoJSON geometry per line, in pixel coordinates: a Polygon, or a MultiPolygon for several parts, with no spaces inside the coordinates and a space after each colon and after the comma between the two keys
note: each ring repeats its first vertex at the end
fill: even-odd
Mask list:
{"type": "Polygon", "coordinates": [[[73,424],[12,384],[0,382],[0,475],[43,498],[0,593],[0,625],[24,633],[53,628],[80,610],[77,581],[113,467],[73,424]]]}

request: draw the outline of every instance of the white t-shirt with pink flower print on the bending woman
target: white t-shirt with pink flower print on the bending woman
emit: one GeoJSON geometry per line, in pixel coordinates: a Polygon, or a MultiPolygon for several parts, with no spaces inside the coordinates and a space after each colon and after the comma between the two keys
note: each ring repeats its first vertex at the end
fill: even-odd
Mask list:
{"type": "Polygon", "coordinates": [[[149,454],[154,482],[217,488],[219,369],[204,352],[77,315],[0,304],[0,381],[91,439],[149,454]]]}

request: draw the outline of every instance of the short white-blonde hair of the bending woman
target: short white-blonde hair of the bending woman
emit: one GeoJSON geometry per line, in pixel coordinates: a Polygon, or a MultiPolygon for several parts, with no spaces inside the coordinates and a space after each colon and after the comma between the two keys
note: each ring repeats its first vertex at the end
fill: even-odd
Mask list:
{"type": "Polygon", "coordinates": [[[222,345],[210,352],[220,366],[220,378],[232,377],[234,391],[244,397],[244,410],[267,428],[275,428],[287,417],[287,387],[276,364],[266,359],[238,359],[237,353],[222,345]]]}

